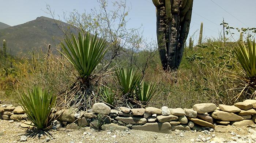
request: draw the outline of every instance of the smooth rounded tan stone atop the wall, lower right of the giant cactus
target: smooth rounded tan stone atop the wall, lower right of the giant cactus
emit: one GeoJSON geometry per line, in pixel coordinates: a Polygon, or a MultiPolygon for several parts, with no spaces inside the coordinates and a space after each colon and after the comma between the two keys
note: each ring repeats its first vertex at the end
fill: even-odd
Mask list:
{"type": "Polygon", "coordinates": [[[208,113],[211,111],[214,111],[217,109],[217,106],[213,103],[200,103],[200,104],[195,104],[193,106],[193,110],[197,111],[197,113],[202,114],[202,113],[208,113]]]}

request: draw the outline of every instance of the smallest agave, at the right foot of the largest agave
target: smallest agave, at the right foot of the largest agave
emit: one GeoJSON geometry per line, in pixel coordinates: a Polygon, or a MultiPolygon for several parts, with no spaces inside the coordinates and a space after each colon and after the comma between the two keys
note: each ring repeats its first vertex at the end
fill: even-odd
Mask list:
{"type": "Polygon", "coordinates": [[[115,92],[113,92],[113,90],[111,88],[102,87],[100,89],[100,95],[104,102],[106,102],[112,106],[114,105],[115,92]]]}

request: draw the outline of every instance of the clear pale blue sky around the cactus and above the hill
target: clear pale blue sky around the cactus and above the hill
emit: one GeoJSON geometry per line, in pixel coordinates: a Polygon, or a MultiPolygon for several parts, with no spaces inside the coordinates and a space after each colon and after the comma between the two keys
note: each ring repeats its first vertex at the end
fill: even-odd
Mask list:
{"type": "MultiPolygon", "coordinates": [[[[0,0],[0,22],[14,26],[36,19],[39,16],[51,17],[46,9],[50,5],[56,15],[69,13],[74,9],[79,13],[98,8],[97,0],[0,0]]],[[[109,0],[109,5],[114,0],[109,0]]],[[[155,6],[151,0],[126,0],[131,9],[128,28],[142,26],[143,35],[156,39],[155,6]]],[[[222,33],[219,25],[224,18],[231,27],[256,27],[256,0],[194,0],[189,36],[195,33],[197,41],[200,23],[203,22],[203,39],[218,38],[222,33]]],[[[239,33],[234,35],[239,37],[239,33]]],[[[237,40],[237,39],[236,39],[237,40]]]]}

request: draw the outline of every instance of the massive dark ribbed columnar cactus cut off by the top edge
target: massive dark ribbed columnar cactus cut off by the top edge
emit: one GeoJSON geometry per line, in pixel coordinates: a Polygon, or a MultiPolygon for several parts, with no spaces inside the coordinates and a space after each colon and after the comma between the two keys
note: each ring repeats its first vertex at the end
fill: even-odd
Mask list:
{"type": "Polygon", "coordinates": [[[156,7],[157,42],[163,69],[177,69],[188,37],[193,0],[152,1],[156,7]]]}

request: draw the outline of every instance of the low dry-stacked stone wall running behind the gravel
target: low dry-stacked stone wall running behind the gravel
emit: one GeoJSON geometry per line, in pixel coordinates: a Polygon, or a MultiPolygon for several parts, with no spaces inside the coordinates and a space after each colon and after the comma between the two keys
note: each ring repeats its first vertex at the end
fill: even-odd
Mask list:
{"type": "MultiPolygon", "coordinates": [[[[20,106],[0,104],[0,119],[14,122],[29,119],[20,106]]],[[[256,100],[245,100],[233,106],[213,103],[195,104],[192,109],[154,107],[129,109],[118,107],[111,109],[104,103],[95,103],[89,111],[78,111],[76,108],[61,110],[55,113],[57,120],[53,128],[90,126],[99,127],[102,122],[103,130],[144,130],[171,133],[174,130],[208,130],[225,132],[232,126],[246,126],[256,123],[256,100]]],[[[21,124],[22,127],[29,127],[21,124]]]]}

